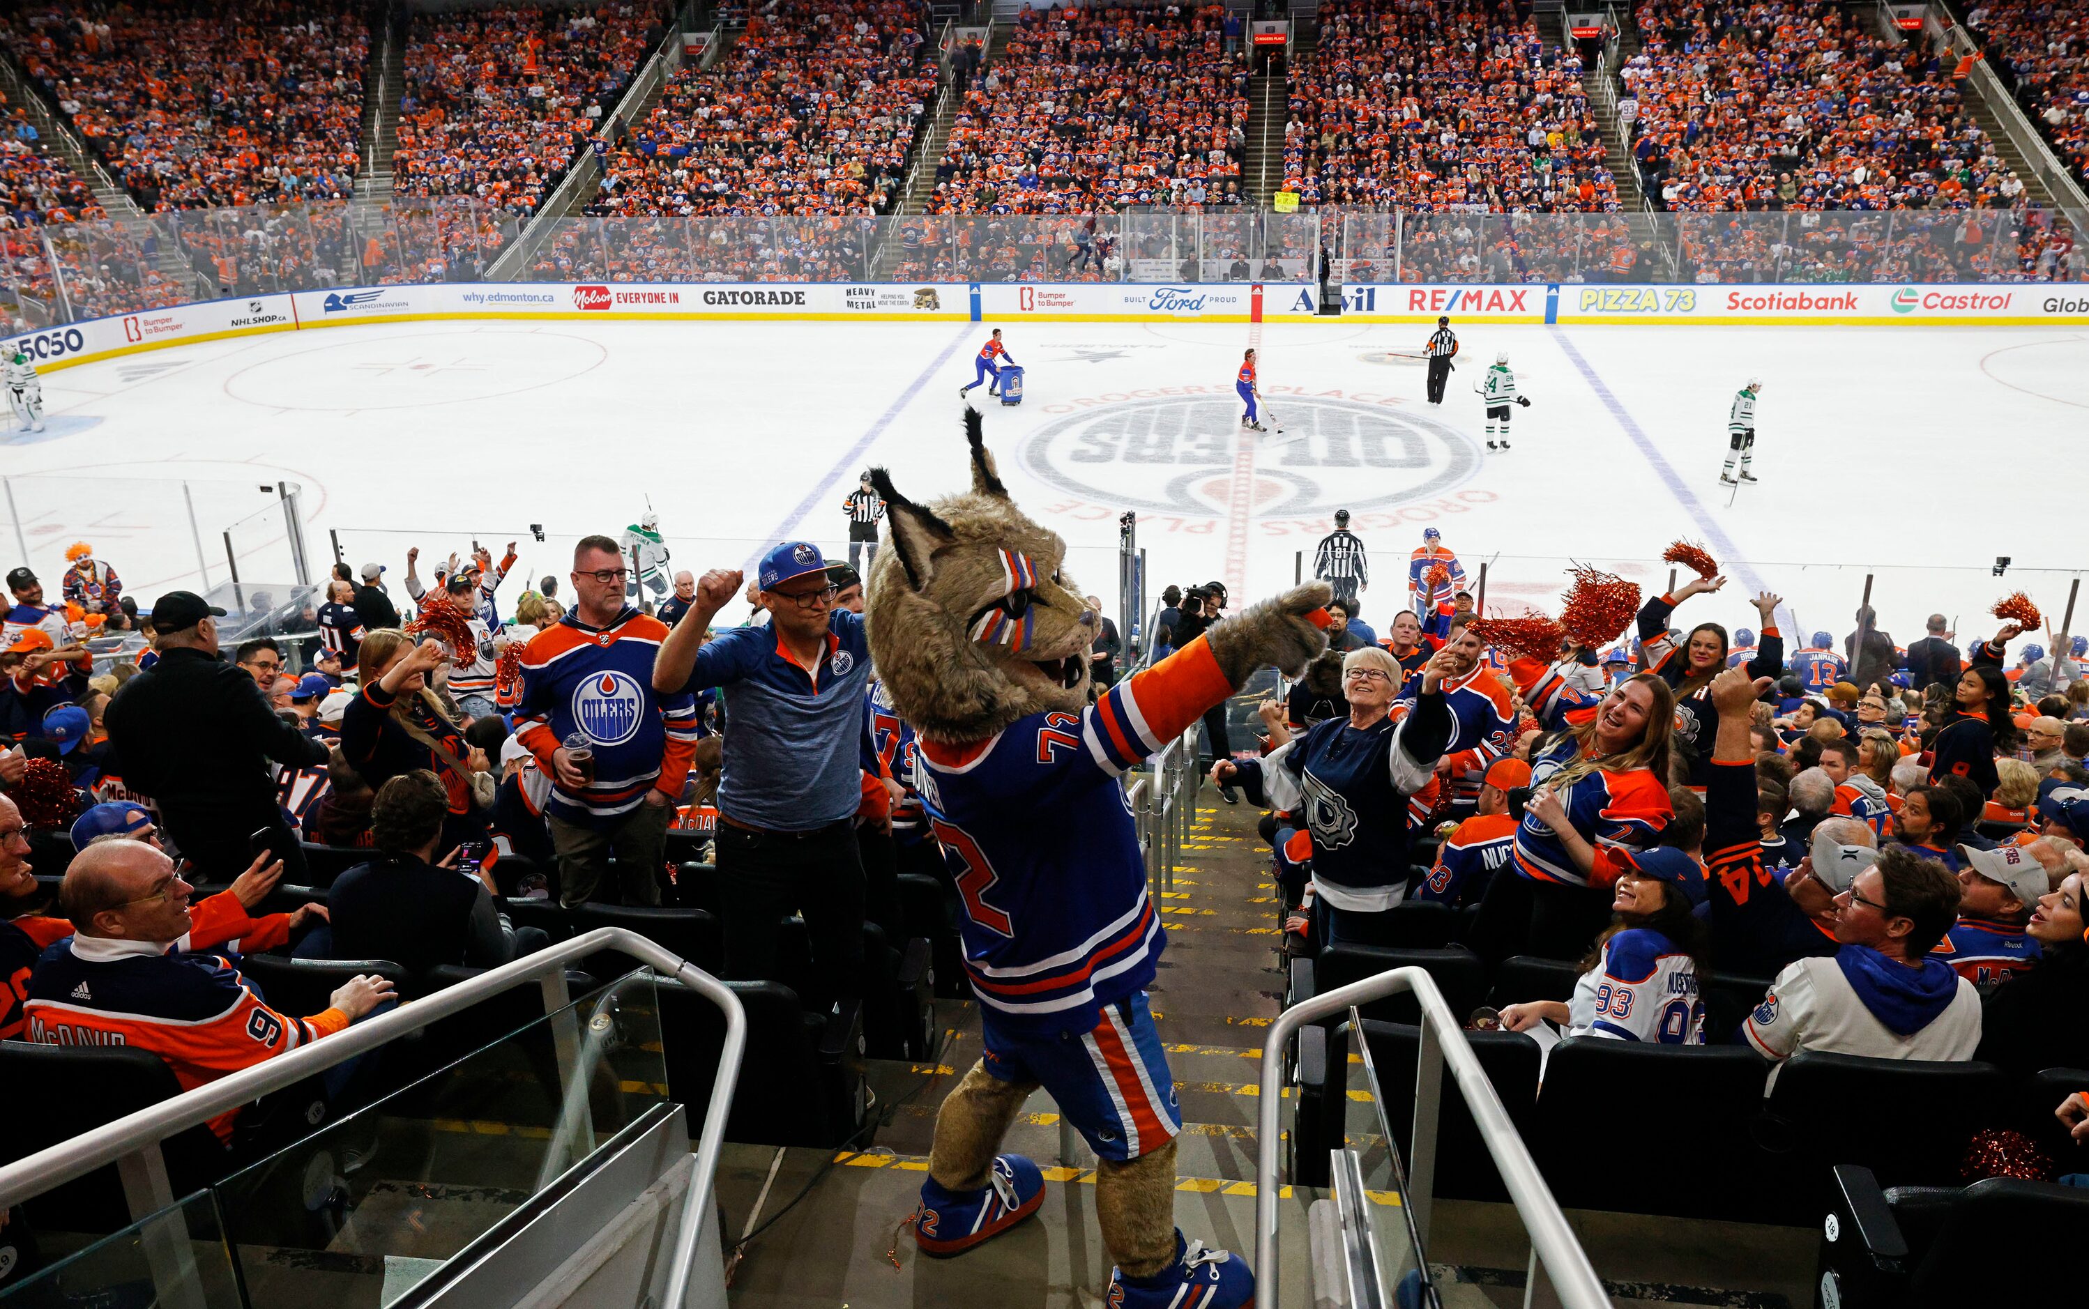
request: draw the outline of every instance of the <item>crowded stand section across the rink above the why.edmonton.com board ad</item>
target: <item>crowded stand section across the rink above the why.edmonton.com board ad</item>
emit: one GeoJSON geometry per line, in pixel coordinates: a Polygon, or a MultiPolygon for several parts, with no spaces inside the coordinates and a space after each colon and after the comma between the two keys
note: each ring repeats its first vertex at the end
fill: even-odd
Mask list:
{"type": "Polygon", "coordinates": [[[537,211],[658,44],[654,2],[414,15],[403,56],[401,196],[537,211]]]}

